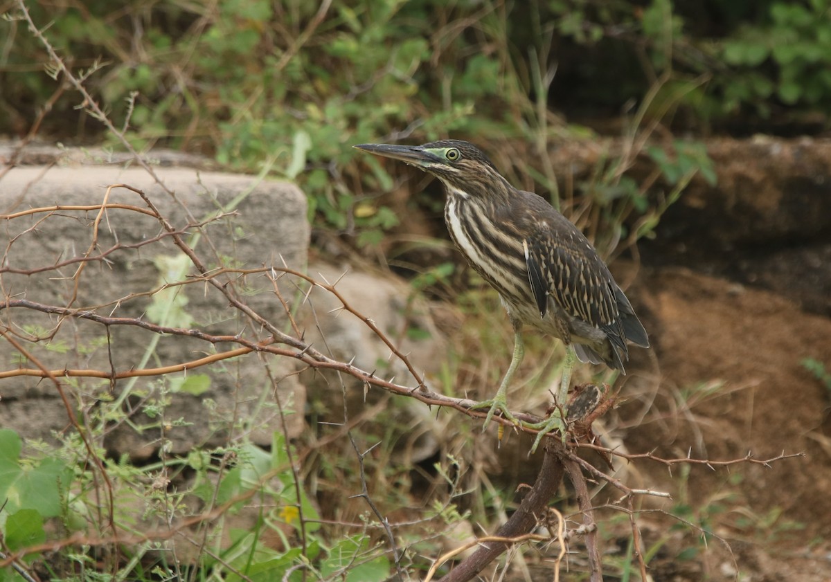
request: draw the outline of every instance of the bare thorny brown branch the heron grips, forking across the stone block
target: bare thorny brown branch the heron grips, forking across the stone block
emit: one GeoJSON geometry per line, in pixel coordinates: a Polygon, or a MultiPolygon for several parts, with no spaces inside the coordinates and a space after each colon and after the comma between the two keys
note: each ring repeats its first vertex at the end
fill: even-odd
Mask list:
{"type": "MultiPolygon", "coordinates": [[[[133,293],[129,296],[121,297],[115,301],[116,304],[124,304],[126,301],[130,301],[130,299],[135,299],[136,297],[152,295],[158,291],[161,291],[165,288],[170,288],[171,286],[184,286],[184,285],[191,285],[194,283],[204,283],[210,282],[215,289],[220,291],[232,304],[232,306],[237,307],[240,311],[245,312],[249,317],[253,320],[257,321],[260,325],[263,326],[266,330],[268,330],[270,337],[264,337],[257,340],[248,339],[243,337],[239,334],[234,335],[215,335],[209,334],[204,332],[203,330],[195,329],[195,328],[175,328],[165,325],[158,325],[152,323],[148,320],[144,320],[137,317],[117,317],[111,315],[100,315],[97,313],[96,310],[99,310],[101,307],[111,304],[103,304],[101,306],[85,306],[85,307],[71,307],[71,306],[54,306],[54,305],[47,305],[43,303],[39,303],[36,301],[29,301],[27,299],[12,299],[10,297],[6,297],[5,300],[0,304],[0,311],[3,310],[12,310],[16,308],[22,308],[32,311],[40,311],[42,313],[52,314],[52,315],[61,315],[63,317],[71,317],[78,320],[89,320],[96,322],[101,325],[105,325],[107,327],[116,326],[116,325],[129,325],[140,327],[144,330],[150,331],[151,333],[159,334],[159,335],[184,335],[189,336],[192,338],[196,338],[199,340],[204,340],[210,344],[237,344],[240,347],[234,350],[224,350],[218,352],[213,355],[208,355],[203,358],[189,360],[187,362],[180,362],[178,364],[170,364],[167,366],[161,366],[156,368],[150,369],[127,369],[121,370],[117,372],[113,372],[111,370],[100,370],[100,369],[39,369],[39,368],[17,368],[17,369],[7,369],[7,370],[0,370],[0,379],[3,378],[11,378],[15,376],[37,376],[42,378],[49,378],[49,377],[87,377],[87,378],[100,378],[100,379],[125,379],[125,378],[133,378],[137,376],[155,376],[155,375],[164,375],[164,374],[171,374],[175,372],[185,371],[188,369],[194,369],[200,366],[204,366],[207,364],[214,364],[219,362],[223,359],[234,358],[239,355],[245,355],[251,352],[265,352],[270,353],[273,355],[289,357],[293,359],[298,359],[302,361],[304,364],[311,366],[312,368],[319,368],[319,369],[334,369],[346,374],[350,374],[356,379],[360,379],[362,382],[368,385],[376,386],[377,388],[385,389],[392,394],[404,395],[409,396],[411,398],[415,398],[420,400],[421,402],[428,404],[428,405],[436,405],[440,407],[447,407],[447,408],[455,408],[456,410],[465,413],[474,418],[484,418],[484,413],[480,412],[479,410],[472,410],[471,407],[475,404],[474,400],[471,399],[460,399],[454,398],[450,396],[445,396],[444,394],[436,393],[426,386],[423,379],[421,379],[420,374],[416,372],[416,369],[411,364],[409,359],[404,355],[393,343],[393,341],[386,335],[382,330],[380,330],[375,322],[371,320],[370,317],[361,314],[361,312],[357,311],[353,306],[350,305],[349,301],[342,296],[342,294],[337,290],[337,282],[330,283],[328,281],[318,281],[312,276],[308,276],[305,273],[300,271],[296,271],[287,267],[259,267],[254,269],[240,269],[240,268],[218,268],[213,270],[208,270],[207,268],[202,266],[202,263],[199,261],[199,258],[196,257],[195,252],[193,249],[188,247],[188,245],[184,242],[182,235],[184,232],[187,232],[191,228],[199,228],[204,226],[206,223],[217,220],[219,218],[224,218],[229,216],[233,213],[219,213],[214,218],[211,218],[210,221],[204,221],[201,223],[189,223],[184,228],[174,228],[167,223],[167,220],[161,216],[158,210],[150,203],[150,200],[146,198],[145,194],[138,190],[137,188],[132,188],[125,184],[113,185],[107,188],[107,196],[112,188],[126,188],[130,191],[138,193],[142,198],[145,199],[145,203],[150,206],[150,210],[147,208],[140,208],[130,204],[122,204],[122,203],[102,203],[102,204],[94,204],[94,205],[86,205],[86,206],[54,206],[54,207],[44,207],[44,208],[30,208],[26,211],[13,213],[13,214],[4,214],[0,215],[0,220],[5,221],[12,221],[15,218],[22,218],[26,216],[32,216],[38,213],[55,213],[57,211],[61,212],[90,212],[90,211],[98,211],[98,215],[96,216],[96,224],[98,221],[101,220],[101,213],[104,212],[106,209],[118,208],[123,210],[128,210],[131,212],[138,212],[143,213],[146,215],[153,216],[156,218],[160,223],[162,223],[165,227],[165,232],[161,233],[157,237],[153,237],[148,239],[147,241],[140,242],[134,244],[125,244],[119,243],[109,249],[106,252],[101,252],[97,255],[91,254],[91,249],[95,247],[94,244],[91,244],[89,249],[86,252],[84,257],[71,257],[61,262],[55,262],[52,266],[49,267],[33,267],[32,269],[12,269],[10,267],[0,267],[0,274],[3,272],[13,272],[17,274],[24,274],[24,275],[34,275],[37,273],[41,273],[43,271],[49,270],[57,270],[60,267],[73,264],[75,262],[88,262],[88,261],[95,261],[95,260],[103,260],[106,255],[109,255],[113,252],[118,250],[125,250],[137,247],[139,245],[150,244],[152,242],[158,242],[163,238],[172,237],[177,246],[187,254],[192,261],[194,261],[194,266],[196,266],[199,270],[199,274],[190,276],[187,281],[175,281],[166,284],[165,286],[161,286],[157,289],[146,291],[143,293],[133,293]],[[219,282],[217,281],[220,276],[226,275],[233,275],[233,276],[253,276],[253,275],[263,275],[269,276],[274,283],[277,282],[278,278],[281,276],[293,276],[295,279],[299,281],[305,281],[309,285],[308,292],[312,290],[312,287],[317,287],[326,291],[327,293],[331,293],[332,296],[335,296],[338,301],[342,304],[342,309],[354,315],[358,320],[361,320],[364,325],[369,327],[372,332],[384,342],[387,348],[391,350],[391,354],[395,355],[396,358],[400,359],[404,364],[406,364],[407,369],[411,372],[413,378],[416,379],[416,386],[406,386],[403,384],[396,384],[391,380],[385,380],[378,376],[374,371],[367,371],[356,367],[353,364],[347,362],[341,362],[337,359],[332,359],[326,355],[323,355],[320,351],[315,350],[312,345],[308,344],[302,339],[302,332],[297,328],[296,323],[294,324],[294,330],[299,335],[288,335],[284,333],[282,330],[279,330],[276,325],[273,325],[269,320],[267,320],[262,315],[259,315],[255,311],[253,311],[248,305],[243,303],[238,299],[237,296],[233,293],[233,286],[226,285],[227,281],[219,282]]],[[[11,245],[12,243],[10,243],[11,245]]],[[[8,252],[8,249],[7,249],[8,252]]],[[[81,271],[76,271],[76,274],[73,278],[76,281],[76,288],[77,288],[77,281],[80,280],[81,271]]],[[[275,285],[275,290],[277,286],[275,285]]],[[[276,291],[276,294],[278,291],[276,291]]],[[[75,297],[72,297],[72,301],[75,300],[75,297]]],[[[289,310],[288,303],[281,300],[283,307],[286,309],[287,314],[289,317],[292,318],[293,321],[293,314],[289,310]]],[[[14,333],[12,330],[6,330],[5,334],[14,333]]],[[[17,335],[17,334],[16,334],[17,335]]],[[[514,413],[514,415],[521,419],[529,421],[530,423],[538,422],[539,418],[527,414],[527,413],[514,413]]],[[[508,420],[504,418],[494,418],[496,422],[503,423],[505,426],[510,428],[523,430],[527,433],[536,433],[534,429],[526,428],[521,426],[519,428],[515,427],[513,423],[510,423],[508,420]]],[[[550,435],[554,438],[558,438],[558,435],[550,435]]],[[[778,457],[773,457],[766,460],[755,459],[752,457],[750,453],[748,453],[745,457],[740,459],[734,460],[727,460],[727,461],[712,461],[709,459],[694,459],[691,457],[682,457],[676,459],[663,459],[661,457],[657,457],[652,452],[645,452],[645,453],[623,453],[618,452],[613,449],[603,448],[601,446],[592,444],[592,443],[578,443],[578,446],[583,448],[592,448],[598,451],[607,452],[607,454],[622,457],[629,461],[637,460],[637,459],[649,459],[655,462],[662,462],[668,466],[680,463],[697,463],[697,464],[704,464],[709,467],[716,467],[716,466],[727,466],[731,464],[735,464],[738,462],[751,462],[751,463],[759,463],[765,466],[770,465],[771,462],[778,461],[780,459],[789,458],[789,457],[796,457],[801,455],[802,453],[793,453],[793,454],[782,454],[778,457]]],[[[611,479],[610,482],[615,484],[615,480],[611,479]]],[[[642,493],[642,492],[638,492],[642,493]]],[[[649,494],[655,494],[654,492],[649,492],[649,494]]]]}

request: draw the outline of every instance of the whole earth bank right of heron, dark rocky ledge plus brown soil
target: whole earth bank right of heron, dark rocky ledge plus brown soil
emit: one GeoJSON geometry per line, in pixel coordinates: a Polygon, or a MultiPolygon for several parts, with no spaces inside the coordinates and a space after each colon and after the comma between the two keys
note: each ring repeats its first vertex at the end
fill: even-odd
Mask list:
{"type": "MultiPolygon", "coordinates": [[[[627,447],[717,460],[804,452],[694,467],[683,495],[752,580],[831,580],[831,387],[803,364],[831,370],[831,142],[719,139],[708,152],[718,184],[693,183],[642,245],[630,296],[657,389],[627,447]]],[[[639,469],[673,487],[666,467],[639,469]]]]}

